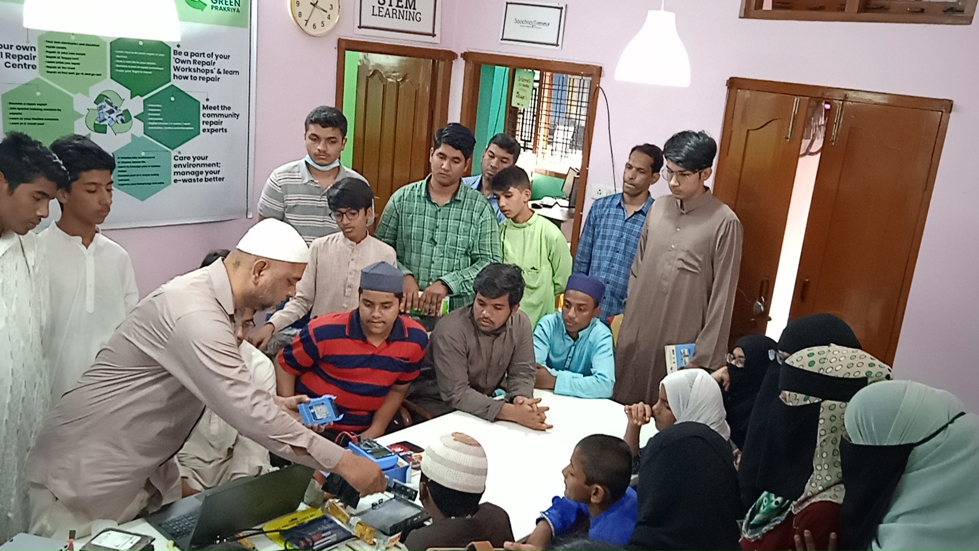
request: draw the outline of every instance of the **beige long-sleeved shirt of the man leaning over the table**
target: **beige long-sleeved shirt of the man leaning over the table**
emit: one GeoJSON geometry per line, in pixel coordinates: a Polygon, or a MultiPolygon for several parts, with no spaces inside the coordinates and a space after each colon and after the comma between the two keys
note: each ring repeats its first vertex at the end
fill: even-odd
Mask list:
{"type": "Polygon", "coordinates": [[[256,386],[235,338],[223,262],[178,275],[140,301],[95,364],[48,415],[28,479],[80,518],[118,523],[141,488],[150,507],[179,498],[173,456],[204,411],[265,449],[329,471],[343,448],[279,409],[256,386]],[[156,491],[153,491],[156,488],[156,491]]]}

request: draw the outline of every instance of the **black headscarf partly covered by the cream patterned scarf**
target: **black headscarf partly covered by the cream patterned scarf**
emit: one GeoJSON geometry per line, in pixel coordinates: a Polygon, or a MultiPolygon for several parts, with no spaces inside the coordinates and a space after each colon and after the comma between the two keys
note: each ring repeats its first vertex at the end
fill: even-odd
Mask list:
{"type": "MultiPolygon", "coordinates": [[[[827,346],[829,344],[837,344],[848,348],[861,348],[860,340],[846,322],[832,314],[811,314],[792,320],[785,326],[778,339],[778,350],[795,354],[804,348],[827,346]]],[[[792,419],[782,419],[777,422],[779,426],[771,427],[771,431],[777,432],[777,436],[773,434],[773,437],[768,437],[771,418],[775,410],[778,409],[777,404],[781,403],[781,400],[778,399],[779,374],[779,370],[772,369],[765,375],[762,381],[762,387],[758,391],[758,397],[755,400],[755,407],[751,412],[751,420],[748,422],[748,432],[745,435],[744,446],[741,447],[741,463],[738,467],[738,478],[741,482],[741,499],[746,507],[750,507],[755,503],[758,497],[762,495],[762,492],[766,490],[786,499],[795,499],[796,496],[779,494],[777,490],[784,486],[794,488],[800,478],[803,484],[805,484],[806,478],[809,475],[806,475],[805,478],[802,476],[804,472],[808,472],[807,470],[811,470],[813,467],[812,455],[804,458],[805,461],[803,461],[801,456],[799,458],[790,457],[793,453],[792,450],[796,450],[795,455],[804,455],[805,452],[800,451],[804,446],[794,447],[783,436],[785,434],[791,434],[792,442],[800,442],[806,444],[806,446],[809,446],[811,442],[815,442],[816,431],[818,430],[818,426],[816,425],[818,422],[816,421],[816,425],[814,425],[813,420],[818,419],[818,409],[815,409],[814,417],[814,413],[809,411],[813,408],[809,408],[809,410],[806,409],[806,406],[795,408],[797,411],[792,419]],[[766,443],[767,441],[768,444],[766,443]],[[769,455],[772,446],[779,446],[781,448],[780,452],[773,454],[779,456],[782,462],[781,473],[762,473],[763,458],[769,455]],[[798,461],[795,461],[795,459],[798,459],[798,461]],[[799,469],[798,473],[790,472],[796,467],[799,469]],[[772,475],[781,478],[785,483],[773,484],[771,480],[772,475]]],[[[811,447],[807,447],[806,449],[810,449],[810,452],[812,452],[811,447]]],[[[769,459],[772,458],[769,457],[769,459]]]]}

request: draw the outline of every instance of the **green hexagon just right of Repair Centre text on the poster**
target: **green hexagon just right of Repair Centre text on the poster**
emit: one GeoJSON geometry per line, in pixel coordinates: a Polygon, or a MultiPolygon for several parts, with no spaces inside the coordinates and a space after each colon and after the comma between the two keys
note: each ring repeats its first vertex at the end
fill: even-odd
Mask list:
{"type": "Polygon", "coordinates": [[[108,76],[106,41],[91,34],[44,32],[37,37],[40,75],[74,94],[108,76]]]}

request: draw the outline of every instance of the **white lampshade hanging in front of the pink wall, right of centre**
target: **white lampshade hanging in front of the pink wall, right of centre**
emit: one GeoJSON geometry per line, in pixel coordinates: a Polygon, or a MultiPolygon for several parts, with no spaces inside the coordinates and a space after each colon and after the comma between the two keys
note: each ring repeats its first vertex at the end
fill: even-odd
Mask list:
{"type": "Polygon", "coordinates": [[[622,52],[615,68],[616,80],[660,84],[690,85],[690,58],[676,33],[676,14],[650,10],[622,52]]]}

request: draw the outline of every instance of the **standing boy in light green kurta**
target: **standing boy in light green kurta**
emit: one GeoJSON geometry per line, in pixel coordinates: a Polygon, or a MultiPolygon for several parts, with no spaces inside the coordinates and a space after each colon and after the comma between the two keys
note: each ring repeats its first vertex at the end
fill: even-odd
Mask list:
{"type": "Polygon", "coordinates": [[[564,292],[571,275],[571,250],[561,229],[531,208],[531,180],[519,167],[496,173],[492,190],[506,217],[499,225],[503,262],[516,264],[524,273],[526,290],[520,309],[534,326],[556,310],[555,299],[564,292]]]}

